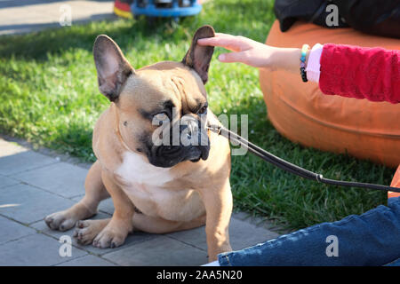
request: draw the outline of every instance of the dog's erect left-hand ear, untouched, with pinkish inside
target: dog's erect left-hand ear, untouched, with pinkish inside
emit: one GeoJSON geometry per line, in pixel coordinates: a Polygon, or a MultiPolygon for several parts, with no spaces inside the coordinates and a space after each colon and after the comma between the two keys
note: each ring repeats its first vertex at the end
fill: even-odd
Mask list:
{"type": "Polygon", "coordinates": [[[126,79],[134,73],[118,45],[108,36],[97,36],[93,45],[99,90],[110,101],[116,101],[126,79]]]}

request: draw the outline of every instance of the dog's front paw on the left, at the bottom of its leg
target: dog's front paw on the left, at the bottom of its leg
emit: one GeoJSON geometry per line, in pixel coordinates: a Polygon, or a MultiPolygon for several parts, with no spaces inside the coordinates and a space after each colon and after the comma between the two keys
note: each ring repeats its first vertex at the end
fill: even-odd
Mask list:
{"type": "Polygon", "coordinates": [[[96,248],[116,248],[124,244],[126,232],[117,225],[110,222],[94,239],[93,246],[96,248]]]}

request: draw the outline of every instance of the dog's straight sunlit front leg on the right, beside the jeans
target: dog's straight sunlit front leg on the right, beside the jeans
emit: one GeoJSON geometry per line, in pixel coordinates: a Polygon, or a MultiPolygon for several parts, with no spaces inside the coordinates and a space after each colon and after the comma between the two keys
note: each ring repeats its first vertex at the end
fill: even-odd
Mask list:
{"type": "Polygon", "coordinates": [[[232,193],[229,179],[221,188],[206,188],[202,190],[206,221],[205,233],[209,261],[217,259],[218,254],[232,250],[229,244],[228,227],[232,213],[232,193]]]}

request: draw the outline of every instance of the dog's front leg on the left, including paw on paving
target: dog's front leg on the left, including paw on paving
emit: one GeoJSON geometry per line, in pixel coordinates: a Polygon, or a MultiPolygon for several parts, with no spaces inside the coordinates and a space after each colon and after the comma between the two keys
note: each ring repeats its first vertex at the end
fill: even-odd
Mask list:
{"type": "Polygon", "coordinates": [[[122,245],[132,231],[134,206],[124,191],[116,185],[111,174],[103,171],[102,180],[114,202],[114,214],[104,229],[96,236],[93,246],[116,248],[122,245]]]}

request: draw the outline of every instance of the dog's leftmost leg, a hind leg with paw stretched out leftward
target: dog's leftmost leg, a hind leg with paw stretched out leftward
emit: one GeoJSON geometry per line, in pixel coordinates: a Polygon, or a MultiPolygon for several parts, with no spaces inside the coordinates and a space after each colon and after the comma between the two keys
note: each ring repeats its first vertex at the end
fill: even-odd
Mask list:
{"type": "Polygon", "coordinates": [[[52,213],[44,218],[44,222],[53,230],[67,231],[76,225],[76,222],[92,217],[97,212],[100,201],[109,197],[101,181],[100,162],[94,162],[89,170],[85,182],[84,198],[70,209],[52,213]]]}

